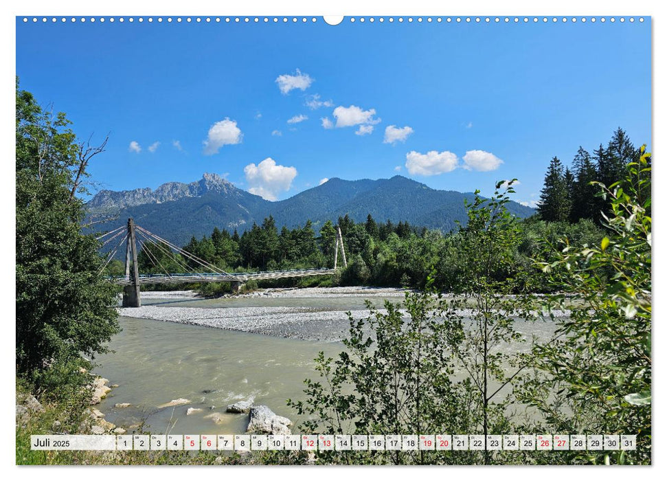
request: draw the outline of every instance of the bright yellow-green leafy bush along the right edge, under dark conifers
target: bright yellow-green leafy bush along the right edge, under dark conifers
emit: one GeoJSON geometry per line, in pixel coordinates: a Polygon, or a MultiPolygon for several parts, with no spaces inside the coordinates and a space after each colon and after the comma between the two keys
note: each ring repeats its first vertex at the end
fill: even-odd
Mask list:
{"type": "Polygon", "coordinates": [[[607,236],[579,248],[565,240],[540,264],[567,293],[547,307],[571,312],[556,339],[534,348],[536,375],[522,396],[553,432],[636,434],[637,451],[615,461],[650,463],[651,197],[640,199],[651,190],[651,155],[642,147],[622,181],[598,186],[607,236]]]}

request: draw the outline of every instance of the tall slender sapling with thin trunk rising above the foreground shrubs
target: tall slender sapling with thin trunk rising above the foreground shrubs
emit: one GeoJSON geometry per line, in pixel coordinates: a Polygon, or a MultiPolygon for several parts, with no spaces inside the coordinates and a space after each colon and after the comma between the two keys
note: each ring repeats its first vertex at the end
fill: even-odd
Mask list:
{"type": "MultiPolygon", "coordinates": [[[[442,303],[446,320],[446,347],[466,373],[462,388],[470,393],[468,429],[473,434],[507,434],[511,425],[506,412],[512,402],[512,383],[519,379],[526,361],[510,346],[525,342],[515,320],[532,319],[530,302],[522,295],[526,276],[515,262],[521,243],[521,227],[508,212],[509,181],[490,199],[475,193],[468,205],[468,223],[460,228],[465,246],[459,252],[458,296],[442,303]],[[513,295],[518,293],[519,295],[513,295]],[[464,315],[466,308],[471,308],[464,315]]],[[[484,463],[497,462],[499,454],[484,451],[484,463]],[[493,459],[495,458],[495,460],[493,459]]]]}

